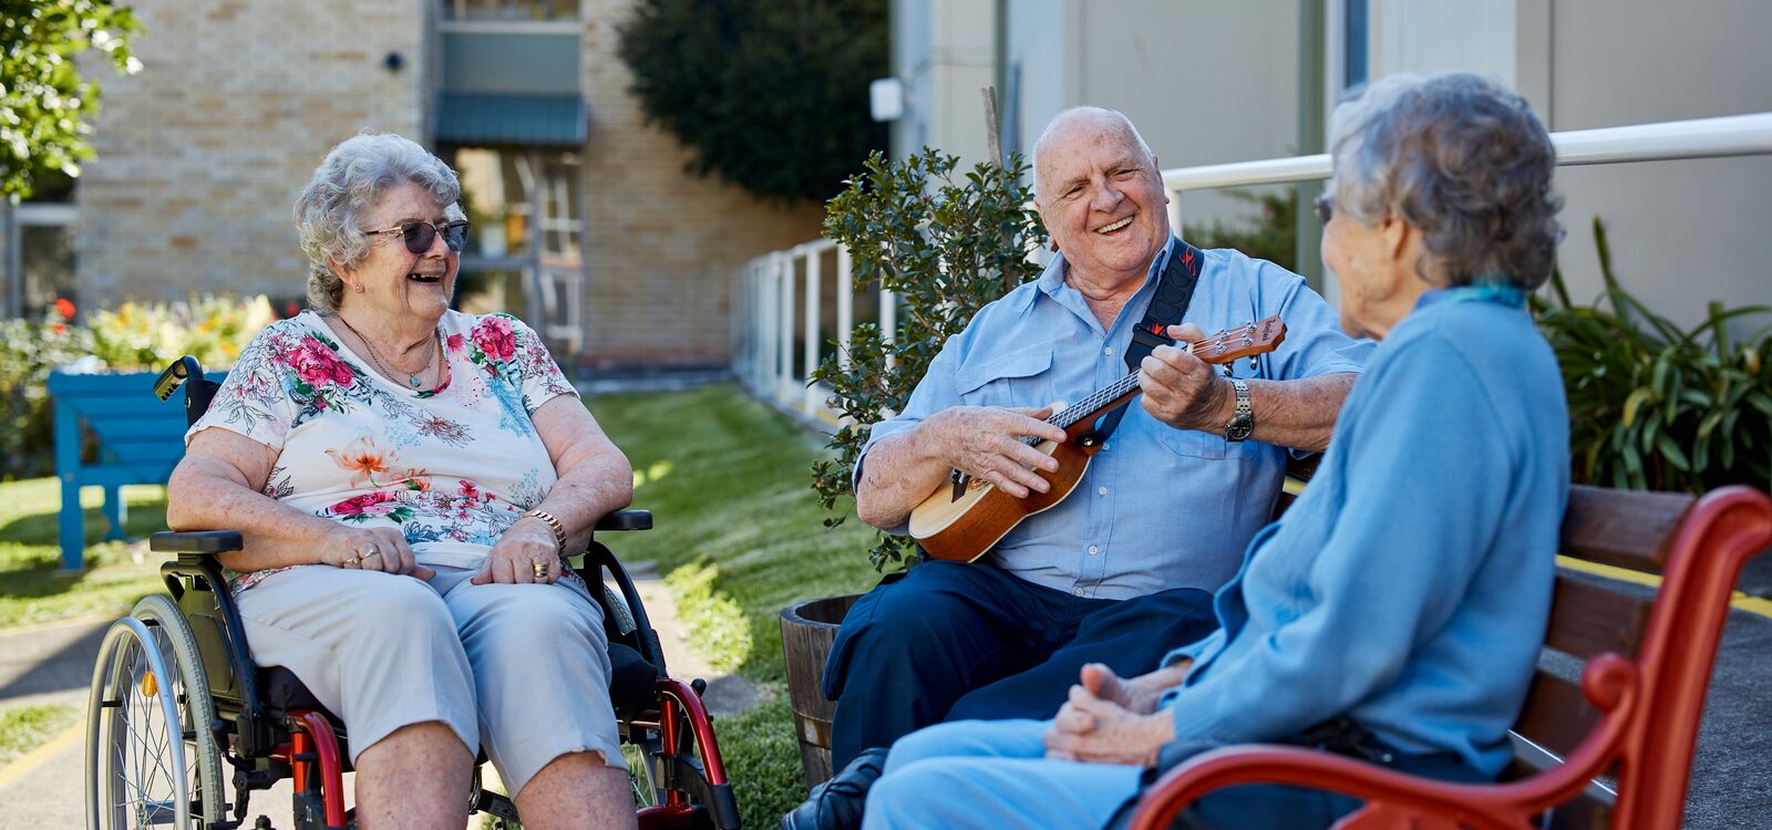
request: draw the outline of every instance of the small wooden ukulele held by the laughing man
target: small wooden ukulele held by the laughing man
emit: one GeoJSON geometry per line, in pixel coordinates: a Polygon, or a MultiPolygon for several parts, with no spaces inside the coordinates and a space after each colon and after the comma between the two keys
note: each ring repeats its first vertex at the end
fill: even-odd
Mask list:
{"type": "MultiPolygon", "coordinates": [[[[1253,359],[1256,354],[1272,352],[1285,340],[1286,324],[1279,322],[1279,317],[1269,317],[1182,345],[1201,361],[1228,365],[1239,357],[1253,359]]],[[[1065,430],[1065,441],[1044,441],[1033,435],[1019,439],[1058,458],[1058,473],[1038,473],[1053,485],[1047,492],[1030,490],[1026,497],[1017,499],[989,481],[955,469],[948,474],[948,483],[911,510],[911,536],[936,559],[969,563],[985,556],[1022,519],[1051,510],[1070,496],[1102,448],[1095,434],[1097,416],[1132,400],[1138,391],[1138,372],[1132,372],[1045,419],[1065,430]]]]}

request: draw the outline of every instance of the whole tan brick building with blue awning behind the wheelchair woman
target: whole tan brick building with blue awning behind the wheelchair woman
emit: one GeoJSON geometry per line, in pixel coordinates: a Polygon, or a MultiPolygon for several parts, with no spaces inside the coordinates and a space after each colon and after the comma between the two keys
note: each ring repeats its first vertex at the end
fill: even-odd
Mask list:
{"type": "Polygon", "coordinates": [[[819,234],[684,173],[617,57],[631,0],[138,0],[144,71],[94,67],[97,159],[71,195],[0,212],[5,315],[204,292],[303,296],[291,204],[370,129],[461,173],[475,227],[457,292],[544,331],[562,363],[718,366],[728,273],[819,234]]]}

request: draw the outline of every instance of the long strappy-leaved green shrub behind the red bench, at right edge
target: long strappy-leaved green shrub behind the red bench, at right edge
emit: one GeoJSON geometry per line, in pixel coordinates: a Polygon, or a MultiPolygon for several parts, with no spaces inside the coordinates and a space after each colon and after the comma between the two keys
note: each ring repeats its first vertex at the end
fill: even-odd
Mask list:
{"type": "Polygon", "coordinates": [[[1611,306],[1575,306],[1563,274],[1556,301],[1533,311],[1556,350],[1568,395],[1572,474],[1636,490],[1705,492],[1772,485],[1772,327],[1731,342],[1728,322],[1767,306],[1724,310],[1682,331],[1632,297],[1613,276],[1598,216],[1602,294],[1611,306]]]}

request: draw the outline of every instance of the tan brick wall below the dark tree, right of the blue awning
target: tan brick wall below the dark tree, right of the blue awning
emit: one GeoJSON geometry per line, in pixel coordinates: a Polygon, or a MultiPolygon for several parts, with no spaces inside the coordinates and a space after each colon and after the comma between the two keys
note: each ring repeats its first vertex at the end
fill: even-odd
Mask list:
{"type": "MultiPolygon", "coordinates": [[[[585,0],[587,365],[725,365],[732,280],[766,251],[819,237],[822,205],[766,204],[684,173],[688,150],[643,124],[617,57],[631,0],[585,0]]],[[[787,129],[794,126],[758,126],[787,129]]]]}

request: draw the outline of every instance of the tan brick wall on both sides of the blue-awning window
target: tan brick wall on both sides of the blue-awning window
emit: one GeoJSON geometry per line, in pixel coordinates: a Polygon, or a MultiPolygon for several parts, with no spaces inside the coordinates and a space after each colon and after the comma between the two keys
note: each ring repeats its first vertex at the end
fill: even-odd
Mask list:
{"type": "MultiPolygon", "coordinates": [[[[585,349],[562,363],[723,365],[732,276],[819,235],[820,205],[780,207],[684,173],[643,124],[617,57],[631,0],[583,0],[585,349]]],[[[82,303],[191,292],[301,297],[289,205],[321,156],[361,131],[427,142],[434,0],[140,0],[144,71],[96,71],[99,158],[78,189],[82,303]],[[383,67],[388,53],[404,67],[383,67]]],[[[769,129],[771,126],[758,126],[769,129]]]]}

